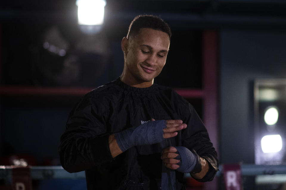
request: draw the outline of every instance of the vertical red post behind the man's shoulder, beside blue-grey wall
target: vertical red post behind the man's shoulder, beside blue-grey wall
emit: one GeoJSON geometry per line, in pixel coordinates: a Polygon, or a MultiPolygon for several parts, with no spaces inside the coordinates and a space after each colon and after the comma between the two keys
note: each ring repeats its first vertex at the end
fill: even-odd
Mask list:
{"type": "MultiPolygon", "coordinates": [[[[209,138],[212,141],[215,149],[219,152],[218,147],[218,130],[217,130],[217,73],[218,73],[218,32],[215,30],[203,31],[203,122],[209,133],[209,138]]],[[[217,181],[206,184],[204,189],[215,189],[217,181]]]]}

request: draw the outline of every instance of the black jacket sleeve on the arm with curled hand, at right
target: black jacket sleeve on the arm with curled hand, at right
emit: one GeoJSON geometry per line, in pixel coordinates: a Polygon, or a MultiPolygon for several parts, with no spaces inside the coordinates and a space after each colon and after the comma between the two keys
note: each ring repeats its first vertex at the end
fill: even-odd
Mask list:
{"type": "Polygon", "coordinates": [[[195,150],[200,157],[209,163],[209,171],[200,182],[212,181],[218,171],[217,152],[209,139],[209,134],[196,113],[194,107],[188,103],[187,116],[184,123],[187,128],[182,131],[182,145],[189,150],[195,150]]]}

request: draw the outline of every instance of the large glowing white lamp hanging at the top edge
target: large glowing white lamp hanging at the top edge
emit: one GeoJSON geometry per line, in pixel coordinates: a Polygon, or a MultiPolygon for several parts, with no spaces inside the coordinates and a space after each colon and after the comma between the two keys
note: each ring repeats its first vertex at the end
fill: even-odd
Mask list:
{"type": "Polygon", "coordinates": [[[77,0],[78,24],[102,25],[104,18],[105,0],[77,0]]]}

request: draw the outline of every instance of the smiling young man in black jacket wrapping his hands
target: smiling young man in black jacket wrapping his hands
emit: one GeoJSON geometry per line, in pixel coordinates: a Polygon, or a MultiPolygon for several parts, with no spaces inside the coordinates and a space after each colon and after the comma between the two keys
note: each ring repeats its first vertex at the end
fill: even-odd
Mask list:
{"type": "MultiPolygon", "coordinates": [[[[154,78],[171,31],[141,15],[122,39],[122,75],[86,94],[70,113],[59,147],[68,172],[86,171],[88,189],[184,189],[184,173],[210,181],[217,153],[194,108],[154,78]]],[[[172,76],[170,76],[172,77],[172,76]]]]}

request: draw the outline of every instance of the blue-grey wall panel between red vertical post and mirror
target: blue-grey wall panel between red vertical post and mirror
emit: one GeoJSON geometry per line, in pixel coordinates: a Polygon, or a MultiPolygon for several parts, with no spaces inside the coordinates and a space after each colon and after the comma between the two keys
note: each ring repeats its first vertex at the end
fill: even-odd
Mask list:
{"type": "Polygon", "coordinates": [[[220,38],[221,162],[254,163],[253,83],[286,77],[286,33],[222,30],[220,38]]]}

